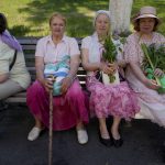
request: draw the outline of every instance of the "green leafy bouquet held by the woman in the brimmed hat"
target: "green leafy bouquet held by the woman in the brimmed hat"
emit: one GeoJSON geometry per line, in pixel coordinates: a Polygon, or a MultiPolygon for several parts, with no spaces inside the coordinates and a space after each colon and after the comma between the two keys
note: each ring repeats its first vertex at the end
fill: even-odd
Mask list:
{"type": "Polygon", "coordinates": [[[142,69],[148,79],[156,81],[158,94],[165,94],[165,76],[156,77],[154,70],[160,68],[164,72],[165,69],[165,46],[163,44],[141,44],[142,51],[144,53],[144,59],[142,64],[142,69]]]}

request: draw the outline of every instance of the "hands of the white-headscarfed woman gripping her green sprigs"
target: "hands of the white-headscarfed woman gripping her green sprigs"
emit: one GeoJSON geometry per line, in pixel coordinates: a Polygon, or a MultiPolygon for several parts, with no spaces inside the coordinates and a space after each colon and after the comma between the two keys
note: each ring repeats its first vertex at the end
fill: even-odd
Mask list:
{"type": "Polygon", "coordinates": [[[117,64],[116,63],[100,63],[100,70],[102,70],[105,74],[112,75],[117,72],[117,64]]]}

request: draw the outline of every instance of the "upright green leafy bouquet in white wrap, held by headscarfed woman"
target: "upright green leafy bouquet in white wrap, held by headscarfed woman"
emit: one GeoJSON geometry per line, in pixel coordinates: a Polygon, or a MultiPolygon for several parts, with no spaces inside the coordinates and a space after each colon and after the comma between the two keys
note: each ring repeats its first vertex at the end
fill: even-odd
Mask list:
{"type": "MultiPolygon", "coordinates": [[[[106,37],[105,43],[103,43],[103,48],[105,50],[102,52],[102,57],[103,57],[105,62],[113,64],[117,59],[118,51],[117,51],[116,45],[112,42],[112,38],[110,35],[108,35],[106,37]]],[[[111,75],[107,75],[102,72],[102,81],[105,85],[120,84],[118,70],[111,75]]]]}

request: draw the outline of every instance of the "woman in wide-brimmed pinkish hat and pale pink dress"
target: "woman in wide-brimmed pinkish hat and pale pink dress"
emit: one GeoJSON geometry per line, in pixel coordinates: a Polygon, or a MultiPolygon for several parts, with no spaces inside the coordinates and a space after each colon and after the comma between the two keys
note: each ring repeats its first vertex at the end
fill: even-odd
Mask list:
{"type": "MultiPolygon", "coordinates": [[[[124,58],[128,62],[127,79],[138,94],[141,111],[144,118],[165,127],[165,95],[158,95],[160,88],[153,80],[146,78],[142,70],[144,59],[141,44],[165,44],[165,37],[156,33],[160,19],[153,7],[143,7],[133,19],[135,32],[131,34],[124,45],[124,58]]],[[[161,77],[164,73],[156,68],[154,75],[161,77]]]]}

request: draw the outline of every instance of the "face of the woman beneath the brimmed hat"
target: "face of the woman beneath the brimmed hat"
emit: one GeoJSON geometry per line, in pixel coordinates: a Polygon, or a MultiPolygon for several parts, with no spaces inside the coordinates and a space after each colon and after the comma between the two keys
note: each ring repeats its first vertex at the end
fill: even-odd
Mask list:
{"type": "Polygon", "coordinates": [[[140,19],[140,32],[142,32],[142,33],[153,32],[154,25],[155,25],[155,19],[154,18],[140,19]]]}

